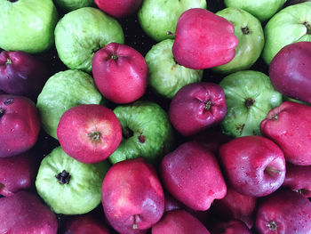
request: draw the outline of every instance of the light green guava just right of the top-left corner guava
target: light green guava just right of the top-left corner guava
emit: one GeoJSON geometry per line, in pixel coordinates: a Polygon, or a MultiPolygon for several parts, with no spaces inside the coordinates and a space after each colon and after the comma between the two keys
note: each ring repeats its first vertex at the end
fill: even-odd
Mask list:
{"type": "Polygon", "coordinates": [[[124,31],[117,20],[96,8],[68,12],[55,28],[57,52],[69,69],[91,73],[94,52],[111,42],[124,44],[124,31]]]}

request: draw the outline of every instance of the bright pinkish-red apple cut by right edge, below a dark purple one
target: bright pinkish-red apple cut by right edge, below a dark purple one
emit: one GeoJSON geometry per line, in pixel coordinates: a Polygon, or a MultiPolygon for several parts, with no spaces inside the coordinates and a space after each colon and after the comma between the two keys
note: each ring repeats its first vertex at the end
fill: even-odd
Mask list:
{"type": "Polygon", "coordinates": [[[271,109],[260,123],[261,133],[275,141],[294,165],[311,165],[310,129],[311,107],[293,101],[271,109]]]}

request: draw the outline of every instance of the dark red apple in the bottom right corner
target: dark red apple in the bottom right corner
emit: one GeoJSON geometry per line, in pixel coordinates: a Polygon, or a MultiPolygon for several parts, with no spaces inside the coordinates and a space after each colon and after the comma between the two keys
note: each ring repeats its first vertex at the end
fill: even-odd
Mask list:
{"type": "Polygon", "coordinates": [[[278,190],[258,207],[259,234],[311,233],[311,203],[298,192],[278,190]]]}

